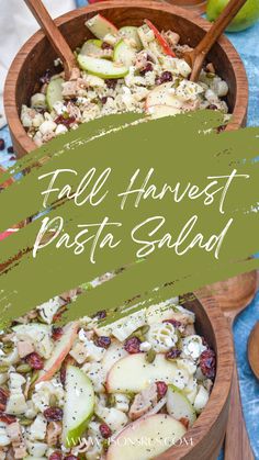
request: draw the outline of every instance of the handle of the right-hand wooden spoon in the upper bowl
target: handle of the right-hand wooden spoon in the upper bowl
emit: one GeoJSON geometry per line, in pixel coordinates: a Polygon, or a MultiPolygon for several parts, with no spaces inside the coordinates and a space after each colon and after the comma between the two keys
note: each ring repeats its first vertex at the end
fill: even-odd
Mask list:
{"type": "Polygon", "coordinates": [[[195,47],[195,54],[206,55],[247,0],[230,0],[217,20],[195,47]]]}

